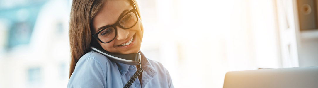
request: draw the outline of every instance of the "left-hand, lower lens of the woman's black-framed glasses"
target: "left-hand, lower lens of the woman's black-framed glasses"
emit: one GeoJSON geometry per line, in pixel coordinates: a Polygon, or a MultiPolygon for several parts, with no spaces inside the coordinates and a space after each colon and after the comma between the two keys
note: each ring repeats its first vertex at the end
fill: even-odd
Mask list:
{"type": "Polygon", "coordinates": [[[114,27],[108,27],[98,34],[98,38],[102,42],[109,42],[115,38],[115,29],[114,27]]]}

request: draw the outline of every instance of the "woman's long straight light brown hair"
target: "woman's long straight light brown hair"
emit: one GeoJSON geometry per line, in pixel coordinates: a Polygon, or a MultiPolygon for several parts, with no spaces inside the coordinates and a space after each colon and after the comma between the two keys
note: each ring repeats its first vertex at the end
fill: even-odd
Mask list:
{"type": "MultiPolygon", "coordinates": [[[[91,42],[93,40],[91,35],[92,24],[91,21],[97,12],[103,7],[106,0],[73,0],[70,16],[70,48],[71,48],[71,63],[70,75],[71,77],[76,63],[79,59],[89,52],[91,42]]],[[[131,5],[135,4],[136,12],[140,18],[140,12],[136,0],[127,0],[131,5]]]]}

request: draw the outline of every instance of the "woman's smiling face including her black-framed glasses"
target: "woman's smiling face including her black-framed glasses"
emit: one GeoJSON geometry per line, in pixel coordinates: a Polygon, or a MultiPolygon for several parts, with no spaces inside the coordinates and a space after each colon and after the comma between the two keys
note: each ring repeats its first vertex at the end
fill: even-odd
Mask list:
{"type": "Polygon", "coordinates": [[[92,33],[95,33],[93,36],[106,51],[116,54],[136,53],[140,49],[143,35],[142,23],[138,20],[134,4],[125,0],[108,2],[93,18],[92,33]]]}

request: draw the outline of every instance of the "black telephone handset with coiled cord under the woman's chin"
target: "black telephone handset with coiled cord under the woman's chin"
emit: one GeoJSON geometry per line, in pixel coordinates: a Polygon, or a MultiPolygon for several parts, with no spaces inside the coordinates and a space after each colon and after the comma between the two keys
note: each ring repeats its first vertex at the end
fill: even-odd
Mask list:
{"type": "Polygon", "coordinates": [[[121,62],[121,63],[129,64],[129,65],[139,65],[140,68],[138,68],[136,70],[135,74],[128,80],[128,82],[125,84],[125,86],[123,88],[129,88],[134,83],[136,78],[138,78],[138,76],[143,71],[143,69],[141,68],[141,64],[140,64],[141,55],[139,53],[123,54],[123,55],[112,54],[112,53],[104,50],[98,43],[97,44],[92,43],[91,49],[93,51],[96,51],[96,52],[102,54],[102,55],[105,55],[110,60],[113,60],[115,62],[121,62]]]}

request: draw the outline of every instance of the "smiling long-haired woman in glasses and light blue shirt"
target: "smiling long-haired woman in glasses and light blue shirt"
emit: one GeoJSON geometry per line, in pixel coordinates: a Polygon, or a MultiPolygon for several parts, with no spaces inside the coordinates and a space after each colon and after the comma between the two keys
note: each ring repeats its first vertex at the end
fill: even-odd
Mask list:
{"type": "Polygon", "coordinates": [[[91,51],[92,43],[114,54],[141,54],[143,72],[130,88],[173,88],[162,64],[139,51],[143,27],[135,0],[73,0],[69,32],[68,88],[122,88],[137,70],[91,51]]]}

